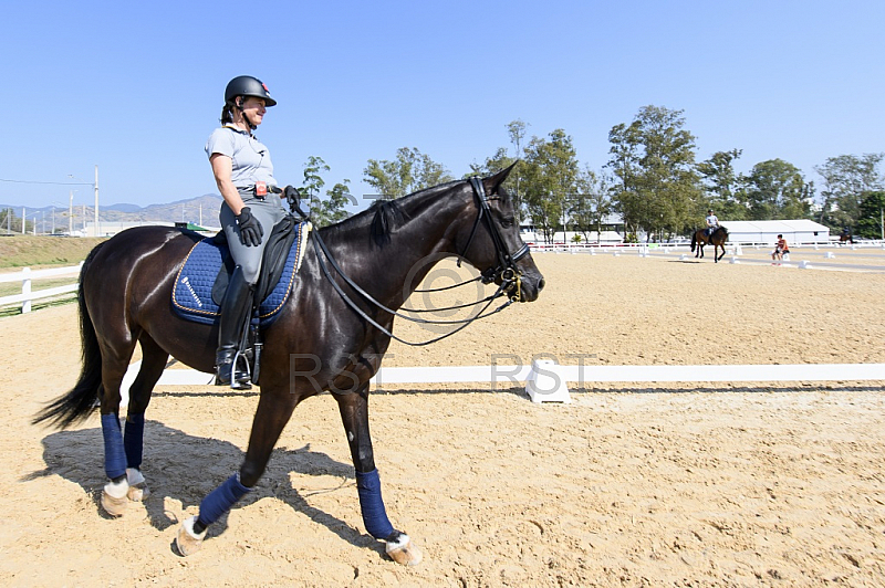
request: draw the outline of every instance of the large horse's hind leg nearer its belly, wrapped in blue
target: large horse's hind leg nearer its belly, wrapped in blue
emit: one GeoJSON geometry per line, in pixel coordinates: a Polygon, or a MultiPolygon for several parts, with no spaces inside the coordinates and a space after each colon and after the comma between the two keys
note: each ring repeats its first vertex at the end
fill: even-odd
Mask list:
{"type": "Polygon", "coordinates": [[[142,475],[145,410],[150,402],[150,392],[163,376],[166,361],[169,359],[169,354],[163,350],[146,333],[143,333],[138,340],[142,344],[142,367],[129,387],[126,429],[123,433],[126,480],[129,484],[128,497],[132,501],[142,501],[148,495],[145,477],[142,475]]]}

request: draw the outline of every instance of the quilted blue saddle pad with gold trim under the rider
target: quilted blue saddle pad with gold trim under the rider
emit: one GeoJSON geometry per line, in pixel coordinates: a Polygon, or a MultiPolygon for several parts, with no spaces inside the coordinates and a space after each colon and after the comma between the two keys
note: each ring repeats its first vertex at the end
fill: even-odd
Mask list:
{"type": "MultiPolygon", "coordinates": [[[[259,305],[259,324],[262,327],[277,319],[295,283],[308,231],[304,230],[304,223],[299,223],[294,231],[295,240],[289,250],[280,281],[259,305]]],[[[220,307],[212,300],[212,285],[229,254],[227,244],[219,245],[214,239],[204,239],[194,245],[178,271],[173,288],[173,308],[178,316],[206,325],[218,319],[220,307]]]]}

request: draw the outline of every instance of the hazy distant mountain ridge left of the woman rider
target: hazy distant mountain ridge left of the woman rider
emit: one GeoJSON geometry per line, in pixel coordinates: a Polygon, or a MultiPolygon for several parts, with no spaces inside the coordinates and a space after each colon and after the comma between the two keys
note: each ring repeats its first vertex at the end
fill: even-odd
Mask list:
{"type": "MultiPolygon", "coordinates": [[[[117,203],[98,206],[100,221],[106,222],[135,222],[135,221],[159,221],[159,222],[192,222],[196,224],[218,225],[218,211],[221,208],[221,197],[218,195],[202,195],[197,198],[186,200],[176,200],[168,204],[150,204],[147,207],[139,207],[137,204],[117,203]]],[[[8,204],[0,204],[0,210],[11,208],[13,214],[21,216],[21,206],[11,207],[8,204]]],[[[67,229],[67,209],[61,207],[43,207],[31,208],[28,207],[28,222],[37,218],[37,213],[43,212],[39,222],[51,223],[53,208],[55,210],[55,225],[60,229],[67,229]]],[[[92,221],[93,208],[86,207],[86,220],[92,221]]],[[[14,218],[14,217],[13,217],[14,218]]],[[[74,207],[74,223],[77,225],[83,221],[83,207],[74,207]]],[[[38,228],[42,231],[42,227],[38,228]]],[[[46,231],[50,228],[46,227],[46,231]]]]}

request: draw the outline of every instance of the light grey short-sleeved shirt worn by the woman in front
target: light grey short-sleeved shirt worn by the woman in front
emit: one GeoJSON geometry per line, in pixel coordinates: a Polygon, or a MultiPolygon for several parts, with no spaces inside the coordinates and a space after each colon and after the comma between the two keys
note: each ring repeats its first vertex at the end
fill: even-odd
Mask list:
{"type": "Polygon", "coordinates": [[[249,133],[232,126],[222,126],[209,135],[206,155],[221,154],[230,157],[230,179],[237,188],[249,188],[257,181],[275,186],[273,164],[268,148],[249,133]]]}

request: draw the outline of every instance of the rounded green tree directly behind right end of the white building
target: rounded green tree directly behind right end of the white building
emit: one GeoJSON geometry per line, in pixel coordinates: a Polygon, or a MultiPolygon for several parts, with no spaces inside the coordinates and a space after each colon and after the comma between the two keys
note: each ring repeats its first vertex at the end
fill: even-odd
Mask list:
{"type": "Polygon", "coordinates": [[[794,165],[769,159],[754,165],[743,181],[740,198],[750,220],[809,218],[814,187],[794,165]]]}

